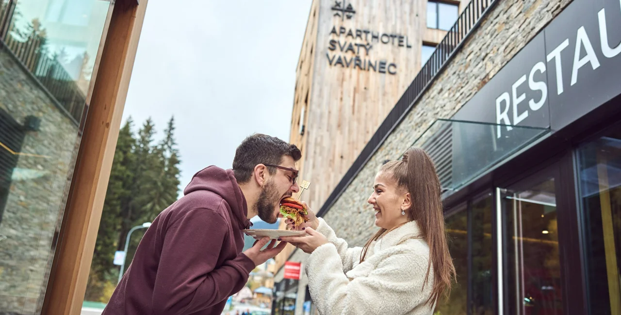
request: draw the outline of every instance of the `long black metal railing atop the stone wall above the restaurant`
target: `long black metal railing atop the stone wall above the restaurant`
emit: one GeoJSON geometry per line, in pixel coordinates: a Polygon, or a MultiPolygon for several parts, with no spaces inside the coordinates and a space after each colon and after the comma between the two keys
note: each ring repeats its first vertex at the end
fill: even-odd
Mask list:
{"type": "Polygon", "coordinates": [[[407,87],[406,92],[397,101],[397,104],[388,113],[388,116],[379,125],[369,142],[362,149],[360,155],[351,164],[350,169],[343,175],[337,187],[332,190],[330,196],[325,201],[317,215],[324,215],[330,207],[337,201],[338,197],[347,189],[351,181],[363,169],[366,162],[371,159],[375,151],[390,135],[392,130],[406,116],[407,112],[415,105],[419,97],[425,92],[428,86],[436,78],[437,74],[443,70],[446,61],[450,60],[456,51],[461,47],[463,41],[468,37],[473,29],[478,27],[481,17],[500,0],[472,0],[461,12],[455,25],[447,31],[446,36],[440,42],[427,63],[420,69],[414,81],[407,87]]]}

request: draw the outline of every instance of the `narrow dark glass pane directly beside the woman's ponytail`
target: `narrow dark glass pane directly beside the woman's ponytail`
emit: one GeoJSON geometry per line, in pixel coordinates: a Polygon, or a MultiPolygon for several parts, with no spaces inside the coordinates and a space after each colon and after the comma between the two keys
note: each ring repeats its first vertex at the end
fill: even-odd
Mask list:
{"type": "Polygon", "coordinates": [[[466,314],[468,303],[468,211],[463,210],[446,218],[448,249],[453,258],[457,283],[451,288],[451,295],[438,302],[436,311],[440,314],[466,314]]]}

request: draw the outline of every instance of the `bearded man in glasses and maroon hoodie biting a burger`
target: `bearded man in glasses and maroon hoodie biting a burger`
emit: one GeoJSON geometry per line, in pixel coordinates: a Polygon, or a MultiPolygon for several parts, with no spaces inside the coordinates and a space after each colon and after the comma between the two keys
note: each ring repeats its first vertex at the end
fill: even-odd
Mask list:
{"type": "Polygon", "coordinates": [[[245,252],[250,218],[274,223],[280,200],[299,191],[300,150],[278,138],[253,135],[235,151],[233,169],[197,172],[184,197],[162,211],[102,315],[220,314],[248,274],[286,245],[264,237],[245,252]]]}

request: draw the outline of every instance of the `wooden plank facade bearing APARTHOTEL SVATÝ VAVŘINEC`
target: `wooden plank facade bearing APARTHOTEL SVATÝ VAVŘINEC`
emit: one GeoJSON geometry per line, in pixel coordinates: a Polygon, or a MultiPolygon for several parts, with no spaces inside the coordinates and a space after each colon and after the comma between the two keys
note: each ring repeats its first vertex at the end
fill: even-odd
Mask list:
{"type": "MultiPolygon", "coordinates": [[[[463,2],[466,2],[463,0],[463,2]]],[[[460,1],[314,0],[296,69],[291,143],[319,210],[446,30],[460,1]]],[[[278,265],[291,254],[283,251],[278,265]]]]}

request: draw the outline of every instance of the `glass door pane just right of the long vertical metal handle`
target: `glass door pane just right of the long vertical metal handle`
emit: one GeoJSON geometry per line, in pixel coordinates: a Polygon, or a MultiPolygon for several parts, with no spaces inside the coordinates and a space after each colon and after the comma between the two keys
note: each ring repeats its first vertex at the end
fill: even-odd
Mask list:
{"type": "Polygon", "coordinates": [[[554,179],[505,198],[512,314],[563,314],[554,179]]]}

